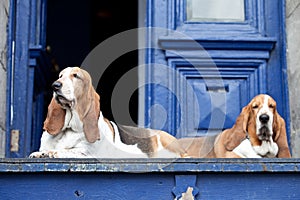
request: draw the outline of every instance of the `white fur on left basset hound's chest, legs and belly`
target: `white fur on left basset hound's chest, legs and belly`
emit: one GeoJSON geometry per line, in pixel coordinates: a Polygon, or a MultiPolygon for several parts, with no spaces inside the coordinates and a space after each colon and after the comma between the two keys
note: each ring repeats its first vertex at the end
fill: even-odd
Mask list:
{"type": "MultiPolygon", "coordinates": [[[[117,126],[113,122],[112,125],[115,131],[114,138],[100,113],[98,120],[100,140],[89,143],[83,133],[82,122],[79,120],[78,114],[76,111],[71,113],[68,110],[62,132],[53,136],[44,131],[39,152],[32,153],[30,157],[41,157],[41,154],[46,154],[55,158],[148,158],[147,154],[143,153],[137,145],[122,143],[117,126]],[[76,130],[73,127],[76,127],[76,130]]],[[[159,137],[158,141],[159,148],[154,157],[179,157],[176,153],[163,148],[159,137]]]]}

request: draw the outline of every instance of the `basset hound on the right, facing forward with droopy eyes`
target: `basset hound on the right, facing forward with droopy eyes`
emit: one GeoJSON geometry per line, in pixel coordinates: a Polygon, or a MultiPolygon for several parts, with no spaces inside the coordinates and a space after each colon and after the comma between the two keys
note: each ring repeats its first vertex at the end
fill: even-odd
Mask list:
{"type": "Polygon", "coordinates": [[[284,119],[272,97],[261,94],[242,109],[234,126],[209,137],[183,138],[188,155],[198,158],[290,158],[284,119]]]}

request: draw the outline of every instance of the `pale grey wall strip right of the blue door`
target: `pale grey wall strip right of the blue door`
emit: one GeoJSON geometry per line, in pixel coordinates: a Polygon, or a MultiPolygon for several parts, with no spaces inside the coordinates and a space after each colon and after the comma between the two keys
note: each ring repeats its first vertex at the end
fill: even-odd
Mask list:
{"type": "Polygon", "coordinates": [[[293,157],[300,157],[300,0],[286,0],[287,63],[293,157]]]}

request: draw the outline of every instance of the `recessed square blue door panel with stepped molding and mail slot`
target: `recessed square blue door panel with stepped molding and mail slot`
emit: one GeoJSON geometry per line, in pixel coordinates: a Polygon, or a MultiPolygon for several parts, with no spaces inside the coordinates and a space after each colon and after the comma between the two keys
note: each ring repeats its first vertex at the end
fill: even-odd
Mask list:
{"type": "Polygon", "coordinates": [[[173,84],[178,85],[177,97],[184,99],[179,101],[183,102],[181,110],[175,111],[183,113],[182,124],[175,126],[181,129],[176,134],[179,137],[214,134],[230,128],[250,97],[266,92],[265,62],[215,60],[215,66],[210,64],[172,61],[184,77],[173,78],[173,84]],[[187,86],[192,90],[187,90],[187,86]]]}

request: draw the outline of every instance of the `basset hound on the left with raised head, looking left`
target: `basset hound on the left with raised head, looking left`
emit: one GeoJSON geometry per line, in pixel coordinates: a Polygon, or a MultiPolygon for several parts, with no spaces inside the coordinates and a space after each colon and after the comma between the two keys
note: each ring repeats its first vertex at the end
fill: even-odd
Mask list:
{"type": "Polygon", "coordinates": [[[120,126],[103,117],[100,97],[83,69],[61,71],[44,121],[40,149],[31,158],[186,157],[170,134],[120,126]]]}

